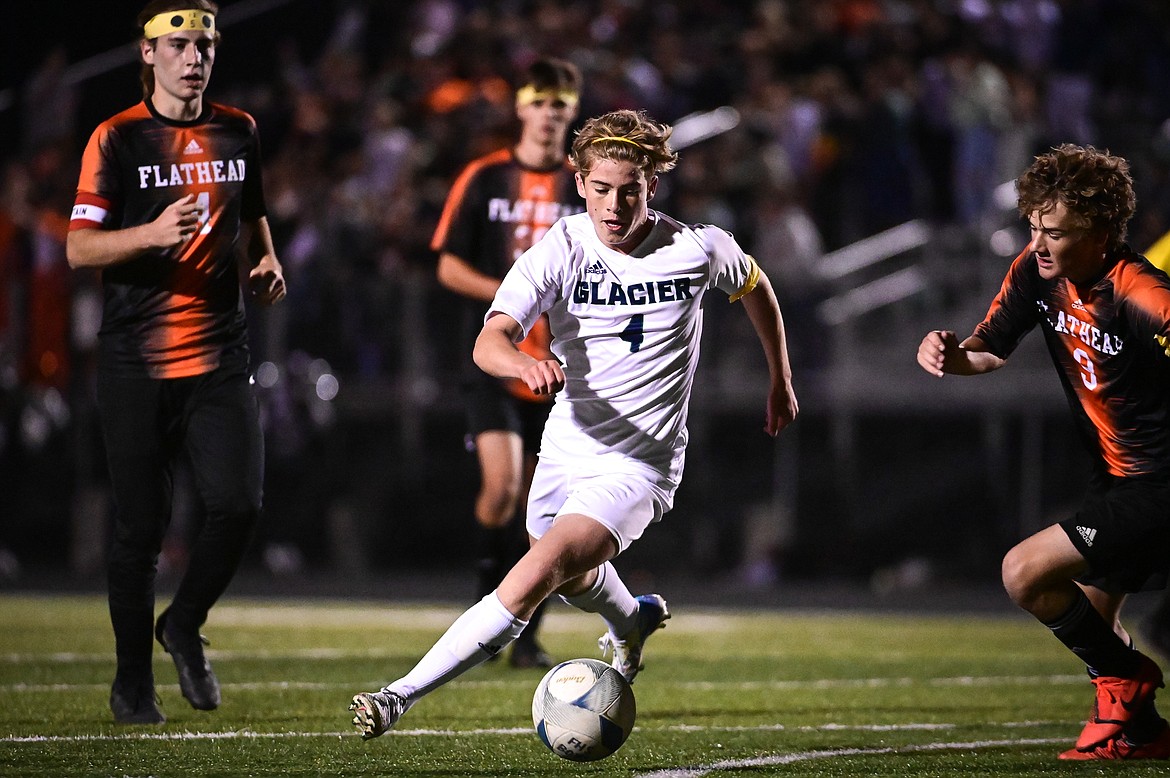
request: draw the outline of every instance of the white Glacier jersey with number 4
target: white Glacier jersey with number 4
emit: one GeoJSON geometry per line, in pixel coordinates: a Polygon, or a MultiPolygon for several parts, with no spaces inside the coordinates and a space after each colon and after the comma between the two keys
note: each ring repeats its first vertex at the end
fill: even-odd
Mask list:
{"type": "Polygon", "coordinates": [[[488,316],[507,314],[526,333],[549,314],[565,388],[542,460],[599,473],[648,466],[676,487],[703,296],[720,289],[734,300],[759,269],[717,227],[649,216],[653,229],[632,254],[605,246],[587,213],[562,219],[508,271],[488,316]]]}

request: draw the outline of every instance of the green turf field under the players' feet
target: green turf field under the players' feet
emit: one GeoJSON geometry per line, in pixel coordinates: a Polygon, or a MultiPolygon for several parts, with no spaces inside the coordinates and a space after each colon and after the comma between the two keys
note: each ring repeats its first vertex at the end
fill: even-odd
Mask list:
{"type": "MultiPolygon", "coordinates": [[[[351,695],[380,687],[453,606],[227,599],[205,632],[214,712],[154,674],[167,723],[115,725],[99,597],[0,595],[2,776],[1154,776],[1168,763],[1062,763],[1092,704],[1075,659],[1020,615],[730,612],[673,604],[634,686],[638,724],[574,764],[531,730],[539,670],[476,668],[363,742],[351,695]]],[[[597,655],[599,621],[557,604],[544,641],[597,655]]]]}

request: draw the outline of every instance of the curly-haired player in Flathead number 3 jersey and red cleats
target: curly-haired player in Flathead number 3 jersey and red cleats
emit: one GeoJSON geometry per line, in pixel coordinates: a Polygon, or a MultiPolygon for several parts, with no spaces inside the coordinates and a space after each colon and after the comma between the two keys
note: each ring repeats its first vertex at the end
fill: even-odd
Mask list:
{"type": "Polygon", "coordinates": [[[1004,586],[1096,687],[1060,758],[1170,758],[1154,707],[1162,670],[1119,618],[1127,593],[1163,588],[1170,570],[1170,280],[1124,242],[1135,209],[1124,159],[1066,144],[1037,157],[1017,190],[1031,242],[973,335],[928,332],[918,365],[991,372],[1040,328],[1094,469],[1079,511],[1007,552],[1004,586]]]}

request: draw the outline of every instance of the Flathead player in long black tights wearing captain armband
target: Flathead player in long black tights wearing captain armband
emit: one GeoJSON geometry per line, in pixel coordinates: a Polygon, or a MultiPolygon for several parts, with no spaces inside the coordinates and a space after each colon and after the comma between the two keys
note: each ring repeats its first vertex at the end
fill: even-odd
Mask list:
{"type": "Polygon", "coordinates": [[[204,99],[216,6],[153,0],[138,15],[143,101],[90,137],[67,242],[102,274],[97,404],[116,504],[109,557],[121,723],[161,723],[152,640],[183,695],[219,705],[199,628],[227,588],[260,516],[263,438],[249,384],[241,277],[284,297],[253,118],[204,99]],[[240,267],[246,257],[246,267],[240,267]],[[154,574],[186,457],[206,521],[170,607],[154,621],[154,574]],[[153,636],[152,636],[153,633],[153,636]]]}

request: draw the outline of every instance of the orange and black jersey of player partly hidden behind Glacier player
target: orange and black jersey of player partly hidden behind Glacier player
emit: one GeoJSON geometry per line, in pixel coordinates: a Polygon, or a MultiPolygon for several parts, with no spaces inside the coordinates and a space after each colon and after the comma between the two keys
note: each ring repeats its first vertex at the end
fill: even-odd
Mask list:
{"type": "MultiPolygon", "coordinates": [[[[532,170],[521,165],[510,149],[501,149],[472,161],[455,179],[431,248],[454,254],[481,273],[503,278],[519,255],[558,219],[583,209],[567,163],[550,170],[532,170]]],[[[460,330],[461,351],[466,356],[463,369],[469,376],[480,377],[472,362],[472,347],[483,326],[488,303],[466,300],[463,308],[460,330]]],[[[535,336],[542,337],[541,332],[535,336]]],[[[546,350],[548,335],[543,338],[545,343],[529,346],[546,350]]]]}

